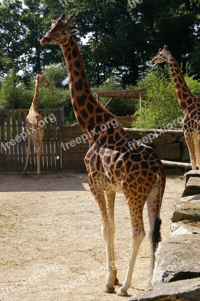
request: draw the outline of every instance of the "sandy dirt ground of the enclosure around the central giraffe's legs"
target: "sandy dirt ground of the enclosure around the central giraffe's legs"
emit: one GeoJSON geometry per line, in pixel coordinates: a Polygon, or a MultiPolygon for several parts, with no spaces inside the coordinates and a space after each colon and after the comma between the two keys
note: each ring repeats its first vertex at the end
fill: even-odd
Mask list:
{"type": "MultiPolygon", "coordinates": [[[[183,192],[181,176],[167,176],[161,209],[162,238],[168,235],[173,202],[183,192]]],[[[148,285],[148,217],[129,296],[148,285]]],[[[131,225],[123,195],[115,202],[115,250],[121,286],[131,250],[131,225]]],[[[0,174],[0,300],[112,301],[106,294],[106,257],[98,208],[87,174],[0,174]]]]}

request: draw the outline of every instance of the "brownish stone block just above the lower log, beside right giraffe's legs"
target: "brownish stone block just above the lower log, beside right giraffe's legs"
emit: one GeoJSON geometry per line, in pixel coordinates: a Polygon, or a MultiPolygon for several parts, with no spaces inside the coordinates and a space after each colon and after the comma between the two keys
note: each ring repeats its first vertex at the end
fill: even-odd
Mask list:
{"type": "Polygon", "coordinates": [[[181,159],[181,144],[180,143],[171,143],[156,145],[155,152],[160,159],[163,160],[180,160],[181,159]]]}

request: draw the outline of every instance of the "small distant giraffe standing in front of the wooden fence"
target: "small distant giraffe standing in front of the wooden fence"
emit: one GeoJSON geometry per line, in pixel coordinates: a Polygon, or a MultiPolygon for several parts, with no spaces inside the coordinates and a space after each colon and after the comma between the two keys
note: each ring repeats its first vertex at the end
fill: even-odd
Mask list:
{"type": "Polygon", "coordinates": [[[38,72],[36,77],[36,89],[34,99],[29,110],[29,114],[26,118],[26,127],[27,127],[27,135],[28,135],[28,147],[27,147],[27,161],[25,165],[25,169],[23,174],[26,175],[28,163],[29,163],[29,156],[31,152],[31,140],[35,147],[35,152],[37,156],[37,178],[40,178],[40,155],[42,149],[42,142],[45,133],[45,121],[42,115],[38,112],[38,102],[39,102],[39,84],[49,85],[50,82],[45,77],[45,74],[42,72],[38,72]]]}

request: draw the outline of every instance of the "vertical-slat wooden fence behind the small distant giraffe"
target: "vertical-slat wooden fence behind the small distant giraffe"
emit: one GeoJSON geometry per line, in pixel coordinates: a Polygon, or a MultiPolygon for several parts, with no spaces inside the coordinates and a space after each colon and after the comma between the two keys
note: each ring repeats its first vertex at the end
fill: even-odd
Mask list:
{"type": "MultiPolygon", "coordinates": [[[[0,110],[0,172],[22,172],[27,157],[26,117],[29,109],[0,110]]],[[[60,171],[63,109],[39,110],[45,118],[41,171],[60,171]]],[[[37,171],[33,143],[28,172],[37,171]]]]}

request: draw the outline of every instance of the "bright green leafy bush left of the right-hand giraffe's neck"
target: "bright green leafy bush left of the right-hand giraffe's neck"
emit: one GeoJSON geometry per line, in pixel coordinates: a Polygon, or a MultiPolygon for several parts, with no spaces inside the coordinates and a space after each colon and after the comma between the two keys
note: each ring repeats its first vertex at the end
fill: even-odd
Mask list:
{"type": "MultiPolygon", "coordinates": [[[[147,90],[146,100],[142,103],[135,116],[133,127],[157,128],[166,126],[168,123],[183,116],[179,107],[173,79],[167,65],[164,68],[156,66],[151,73],[146,74],[138,81],[138,89],[147,90]],[[146,107],[146,108],[145,108],[146,107]]],[[[178,124],[176,125],[178,127],[178,124]]]]}

